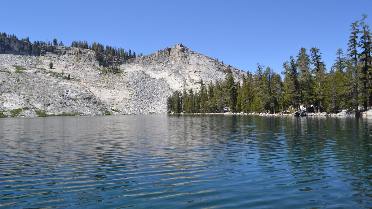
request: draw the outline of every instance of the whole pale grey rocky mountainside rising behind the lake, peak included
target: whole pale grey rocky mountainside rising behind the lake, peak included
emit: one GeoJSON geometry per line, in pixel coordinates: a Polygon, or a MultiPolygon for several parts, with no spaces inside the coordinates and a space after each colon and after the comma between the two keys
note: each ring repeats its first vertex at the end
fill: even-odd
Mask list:
{"type": "MultiPolygon", "coordinates": [[[[0,37],[0,53],[0,116],[163,114],[171,92],[223,80],[227,68],[182,44],[130,60],[105,57],[117,73],[89,49],[0,37]]],[[[244,71],[230,68],[240,80],[244,71]]]]}

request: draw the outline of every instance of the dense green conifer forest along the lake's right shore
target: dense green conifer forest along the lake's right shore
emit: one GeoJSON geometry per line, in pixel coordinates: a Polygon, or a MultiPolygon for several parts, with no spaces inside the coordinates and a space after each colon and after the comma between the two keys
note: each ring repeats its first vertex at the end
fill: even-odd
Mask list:
{"type": "MultiPolygon", "coordinates": [[[[200,90],[175,91],[167,99],[168,113],[286,112],[289,107],[307,112],[339,113],[372,106],[371,31],[367,15],[350,25],[347,52],[339,48],[327,72],[317,47],[305,48],[283,63],[282,76],[257,63],[256,71],[235,82],[230,67],[225,80],[204,84],[200,90]],[[363,106],[360,108],[359,106],[363,106]]],[[[291,110],[291,109],[290,109],[291,110]]]]}

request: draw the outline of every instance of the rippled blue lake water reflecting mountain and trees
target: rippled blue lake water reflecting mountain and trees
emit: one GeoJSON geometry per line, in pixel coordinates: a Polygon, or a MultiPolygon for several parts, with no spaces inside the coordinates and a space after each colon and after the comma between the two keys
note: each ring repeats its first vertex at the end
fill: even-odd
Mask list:
{"type": "Polygon", "coordinates": [[[372,118],[0,119],[0,208],[371,208],[372,118]]]}

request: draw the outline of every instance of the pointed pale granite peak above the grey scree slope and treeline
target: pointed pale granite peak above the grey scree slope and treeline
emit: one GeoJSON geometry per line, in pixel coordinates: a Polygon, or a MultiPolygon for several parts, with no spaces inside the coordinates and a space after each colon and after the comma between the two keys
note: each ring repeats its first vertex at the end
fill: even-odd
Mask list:
{"type": "Polygon", "coordinates": [[[224,65],[211,57],[196,53],[182,44],[153,54],[127,61],[120,65],[124,72],[144,71],[156,79],[164,79],[173,90],[200,89],[200,82],[224,80],[230,67],[235,81],[241,81],[244,71],[224,65]]]}

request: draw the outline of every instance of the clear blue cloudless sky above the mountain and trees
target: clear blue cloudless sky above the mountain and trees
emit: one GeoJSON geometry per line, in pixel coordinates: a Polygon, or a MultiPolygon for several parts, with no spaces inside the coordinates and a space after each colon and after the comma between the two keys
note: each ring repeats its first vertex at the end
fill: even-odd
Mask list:
{"type": "Polygon", "coordinates": [[[344,52],[350,25],[371,0],[2,1],[0,31],[71,45],[74,40],[151,54],[182,43],[244,71],[256,63],[280,73],[301,47],[316,46],[327,70],[344,52]]]}

